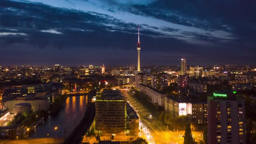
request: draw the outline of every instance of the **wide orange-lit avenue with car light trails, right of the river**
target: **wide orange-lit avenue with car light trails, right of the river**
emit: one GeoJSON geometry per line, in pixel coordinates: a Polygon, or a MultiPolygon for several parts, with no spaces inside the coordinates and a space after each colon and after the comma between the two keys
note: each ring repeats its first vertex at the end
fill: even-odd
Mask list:
{"type": "MultiPolygon", "coordinates": [[[[133,94],[128,91],[129,89],[122,89],[122,93],[128,98],[128,103],[134,108],[134,110],[138,113],[140,118],[140,127],[141,125],[146,127],[142,129],[144,138],[148,140],[149,143],[156,144],[183,144],[184,137],[182,137],[185,133],[184,130],[178,131],[170,131],[167,130],[166,127],[160,126],[156,122],[156,117],[152,116],[136,98],[134,98],[133,94]],[[146,133],[145,133],[146,131],[146,133]],[[150,135],[150,136],[148,136],[150,135]]],[[[194,138],[198,141],[201,139],[202,132],[192,132],[194,138]]]]}

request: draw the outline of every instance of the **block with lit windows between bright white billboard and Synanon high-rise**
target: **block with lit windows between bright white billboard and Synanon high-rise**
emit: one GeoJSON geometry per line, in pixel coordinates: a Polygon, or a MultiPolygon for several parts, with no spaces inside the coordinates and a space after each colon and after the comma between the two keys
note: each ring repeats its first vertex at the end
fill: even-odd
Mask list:
{"type": "Polygon", "coordinates": [[[207,123],[207,102],[192,103],[192,120],[198,124],[207,123]]]}

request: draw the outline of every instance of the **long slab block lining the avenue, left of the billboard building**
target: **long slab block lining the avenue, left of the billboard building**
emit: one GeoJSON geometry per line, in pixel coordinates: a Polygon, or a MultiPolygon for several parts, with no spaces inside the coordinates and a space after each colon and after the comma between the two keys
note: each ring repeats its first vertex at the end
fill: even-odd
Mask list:
{"type": "Polygon", "coordinates": [[[138,89],[140,92],[143,92],[150,97],[152,104],[156,104],[164,108],[164,98],[166,97],[166,94],[144,84],[139,84],[138,89]]]}

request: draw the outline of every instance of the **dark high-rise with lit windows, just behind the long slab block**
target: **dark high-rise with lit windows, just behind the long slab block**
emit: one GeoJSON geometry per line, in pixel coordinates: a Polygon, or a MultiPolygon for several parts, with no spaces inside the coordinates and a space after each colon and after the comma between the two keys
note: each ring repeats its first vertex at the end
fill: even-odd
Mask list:
{"type": "Polygon", "coordinates": [[[154,74],[151,77],[151,87],[157,90],[163,90],[168,86],[168,74],[160,73],[154,74]]]}

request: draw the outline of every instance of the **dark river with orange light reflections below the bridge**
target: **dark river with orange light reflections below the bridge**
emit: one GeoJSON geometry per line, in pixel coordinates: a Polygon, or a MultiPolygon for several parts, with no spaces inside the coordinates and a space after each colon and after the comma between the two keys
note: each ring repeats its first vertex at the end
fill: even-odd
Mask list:
{"type": "Polygon", "coordinates": [[[35,132],[30,134],[30,138],[47,137],[67,137],[72,130],[79,124],[84,116],[88,102],[87,96],[68,97],[66,104],[55,116],[48,116],[44,122],[36,127],[35,132]],[[57,130],[54,128],[57,127],[57,130]]]}

